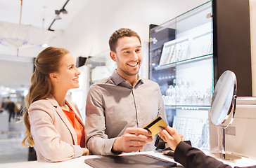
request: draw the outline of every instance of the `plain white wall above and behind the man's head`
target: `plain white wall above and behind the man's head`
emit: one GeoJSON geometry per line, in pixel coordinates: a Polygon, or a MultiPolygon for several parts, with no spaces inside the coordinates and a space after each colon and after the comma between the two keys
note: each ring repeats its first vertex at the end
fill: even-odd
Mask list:
{"type": "Polygon", "coordinates": [[[148,77],[148,29],[195,8],[207,0],[108,0],[89,1],[84,10],[54,41],[78,56],[94,56],[108,50],[108,38],[116,29],[127,27],[141,36],[141,76],[148,77]]]}

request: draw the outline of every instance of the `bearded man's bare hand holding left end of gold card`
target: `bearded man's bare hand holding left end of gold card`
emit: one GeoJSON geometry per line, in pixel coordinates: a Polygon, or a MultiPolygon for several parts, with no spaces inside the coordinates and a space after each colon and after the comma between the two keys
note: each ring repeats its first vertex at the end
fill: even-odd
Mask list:
{"type": "Polygon", "coordinates": [[[128,127],[121,137],[117,137],[113,144],[113,152],[133,152],[139,151],[147,143],[153,141],[151,132],[139,127],[128,127]]]}

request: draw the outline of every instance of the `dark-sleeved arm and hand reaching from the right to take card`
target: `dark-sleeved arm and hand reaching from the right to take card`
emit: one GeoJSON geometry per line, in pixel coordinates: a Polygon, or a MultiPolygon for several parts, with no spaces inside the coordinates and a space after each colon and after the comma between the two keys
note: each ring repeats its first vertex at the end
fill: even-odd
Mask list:
{"type": "MultiPolygon", "coordinates": [[[[231,166],[225,165],[223,162],[205,155],[205,153],[198,148],[193,148],[184,141],[181,141],[180,134],[178,134],[177,130],[172,127],[167,126],[165,129],[159,127],[159,130],[160,137],[167,142],[169,147],[174,151],[174,160],[181,163],[181,165],[184,165],[184,167],[231,168],[231,166]]],[[[250,168],[256,168],[256,166],[251,166],[250,168]]]]}

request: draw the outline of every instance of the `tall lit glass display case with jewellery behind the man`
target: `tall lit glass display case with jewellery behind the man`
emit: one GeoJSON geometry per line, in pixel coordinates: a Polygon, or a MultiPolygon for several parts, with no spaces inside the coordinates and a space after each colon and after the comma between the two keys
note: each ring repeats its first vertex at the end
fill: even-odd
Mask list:
{"type": "Polygon", "coordinates": [[[150,26],[149,78],[160,85],[168,124],[198,148],[209,148],[212,38],[212,1],[150,26]]]}

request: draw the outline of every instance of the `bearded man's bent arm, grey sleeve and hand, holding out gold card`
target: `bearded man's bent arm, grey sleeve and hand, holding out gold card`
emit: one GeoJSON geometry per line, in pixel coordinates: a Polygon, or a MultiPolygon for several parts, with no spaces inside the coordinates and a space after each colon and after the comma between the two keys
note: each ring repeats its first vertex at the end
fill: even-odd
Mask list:
{"type": "Polygon", "coordinates": [[[87,148],[92,154],[115,155],[139,151],[146,141],[153,141],[151,132],[143,128],[127,128],[121,137],[108,139],[105,134],[105,104],[96,85],[91,85],[89,89],[86,115],[87,148]]]}

